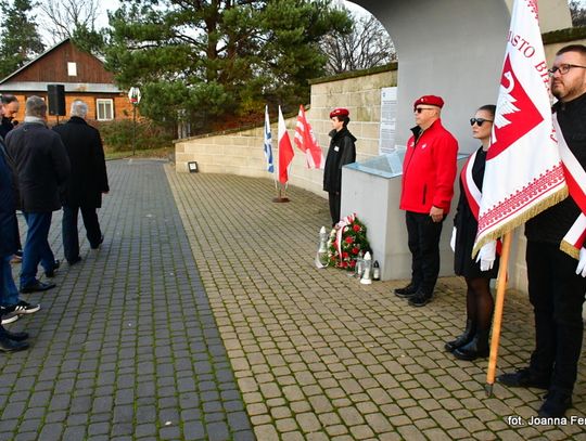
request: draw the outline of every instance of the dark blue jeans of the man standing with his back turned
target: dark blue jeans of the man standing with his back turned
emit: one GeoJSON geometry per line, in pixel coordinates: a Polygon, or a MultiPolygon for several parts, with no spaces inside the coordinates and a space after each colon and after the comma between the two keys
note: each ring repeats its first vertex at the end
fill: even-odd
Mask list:
{"type": "Polygon", "coordinates": [[[39,262],[44,271],[52,270],[55,264],[55,256],[48,241],[52,215],[52,212],[24,213],[27,232],[21,268],[21,288],[35,283],[39,262]]]}

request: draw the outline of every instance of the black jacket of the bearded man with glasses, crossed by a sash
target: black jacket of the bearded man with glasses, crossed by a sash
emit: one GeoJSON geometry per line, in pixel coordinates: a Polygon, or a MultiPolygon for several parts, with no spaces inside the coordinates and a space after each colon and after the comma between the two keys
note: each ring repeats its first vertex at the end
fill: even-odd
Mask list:
{"type": "MultiPolygon", "coordinates": [[[[586,169],[586,93],[568,103],[558,102],[553,109],[568,147],[586,169]]],[[[572,196],[568,196],[527,221],[527,241],[559,245],[579,213],[581,209],[572,196]]]]}

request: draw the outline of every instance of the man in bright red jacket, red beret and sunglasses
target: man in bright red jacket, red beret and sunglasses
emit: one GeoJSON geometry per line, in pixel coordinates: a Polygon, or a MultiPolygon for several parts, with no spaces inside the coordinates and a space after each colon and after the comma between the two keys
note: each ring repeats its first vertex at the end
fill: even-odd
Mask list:
{"type": "Polygon", "coordinates": [[[413,104],[417,126],[403,161],[399,208],[406,211],[411,282],[395,289],[409,304],[422,307],[433,296],[440,273],[440,235],[456,179],[458,142],[443,126],[444,100],[424,95],[413,104]]]}

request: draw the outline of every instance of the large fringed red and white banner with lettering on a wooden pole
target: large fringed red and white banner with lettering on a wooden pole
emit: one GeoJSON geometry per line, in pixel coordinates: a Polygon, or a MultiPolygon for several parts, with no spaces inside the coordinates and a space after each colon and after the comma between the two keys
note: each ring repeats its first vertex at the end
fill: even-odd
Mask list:
{"type": "Polygon", "coordinates": [[[515,0],[473,254],[566,195],[537,0],[515,0]]]}

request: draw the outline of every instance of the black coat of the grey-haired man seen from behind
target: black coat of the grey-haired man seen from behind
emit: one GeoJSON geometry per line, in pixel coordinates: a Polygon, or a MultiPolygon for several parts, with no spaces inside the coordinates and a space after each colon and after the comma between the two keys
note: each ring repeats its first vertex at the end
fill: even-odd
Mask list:
{"type": "Polygon", "coordinates": [[[100,132],[76,116],[66,124],[54,127],[53,130],[63,140],[72,164],[65,205],[101,207],[102,193],[107,193],[110,186],[100,132]]]}

